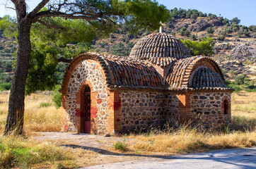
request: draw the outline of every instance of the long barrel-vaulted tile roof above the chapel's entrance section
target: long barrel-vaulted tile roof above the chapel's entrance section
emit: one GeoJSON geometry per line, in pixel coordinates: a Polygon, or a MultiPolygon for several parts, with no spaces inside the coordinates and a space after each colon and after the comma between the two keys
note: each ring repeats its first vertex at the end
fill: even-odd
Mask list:
{"type": "Polygon", "coordinates": [[[86,59],[91,59],[100,63],[105,74],[107,87],[163,88],[161,75],[159,75],[157,70],[146,61],[137,61],[135,59],[120,56],[87,53],[78,55],[66,68],[60,92],[66,92],[69,77],[76,64],[86,59]]]}

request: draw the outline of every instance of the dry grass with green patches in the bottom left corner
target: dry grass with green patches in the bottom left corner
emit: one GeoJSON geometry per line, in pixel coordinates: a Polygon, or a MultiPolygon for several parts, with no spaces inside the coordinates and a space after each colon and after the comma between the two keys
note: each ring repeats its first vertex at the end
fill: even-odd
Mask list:
{"type": "Polygon", "coordinates": [[[53,142],[0,137],[0,168],[78,168],[92,165],[90,159],[97,157],[93,151],[74,150],[53,142]]]}

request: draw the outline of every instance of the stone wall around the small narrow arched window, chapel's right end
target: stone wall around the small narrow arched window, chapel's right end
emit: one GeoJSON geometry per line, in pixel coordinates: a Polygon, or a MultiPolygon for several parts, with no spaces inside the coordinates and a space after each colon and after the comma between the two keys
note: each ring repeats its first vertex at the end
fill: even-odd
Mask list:
{"type": "Polygon", "coordinates": [[[191,94],[191,117],[207,128],[221,129],[231,125],[231,93],[199,92],[191,94]],[[223,113],[223,101],[228,101],[228,114],[223,113]]]}

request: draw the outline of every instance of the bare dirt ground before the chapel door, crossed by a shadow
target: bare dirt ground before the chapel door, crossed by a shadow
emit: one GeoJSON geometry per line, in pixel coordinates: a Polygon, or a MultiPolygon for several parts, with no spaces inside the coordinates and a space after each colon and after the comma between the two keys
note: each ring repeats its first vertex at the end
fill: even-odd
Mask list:
{"type": "MultiPolygon", "coordinates": [[[[77,134],[72,132],[37,132],[32,139],[50,141],[59,146],[71,147],[74,149],[83,149],[94,151],[98,154],[97,157],[86,159],[82,166],[90,166],[104,163],[115,163],[122,161],[142,160],[145,158],[165,157],[164,154],[135,154],[122,153],[113,149],[113,144],[117,141],[122,141],[123,137],[104,137],[92,134],[77,134]],[[93,159],[92,159],[93,158],[93,159]]],[[[126,139],[129,142],[131,139],[126,139]]]]}

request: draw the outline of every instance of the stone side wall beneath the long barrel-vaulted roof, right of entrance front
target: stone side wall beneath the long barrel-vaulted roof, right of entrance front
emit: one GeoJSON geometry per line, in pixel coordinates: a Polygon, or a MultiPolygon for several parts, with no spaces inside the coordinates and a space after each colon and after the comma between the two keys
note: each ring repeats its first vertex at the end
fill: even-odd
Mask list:
{"type": "Polygon", "coordinates": [[[145,131],[165,124],[163,92],[120,91],[120,132],[145,131]]]}

